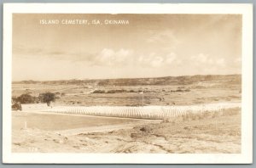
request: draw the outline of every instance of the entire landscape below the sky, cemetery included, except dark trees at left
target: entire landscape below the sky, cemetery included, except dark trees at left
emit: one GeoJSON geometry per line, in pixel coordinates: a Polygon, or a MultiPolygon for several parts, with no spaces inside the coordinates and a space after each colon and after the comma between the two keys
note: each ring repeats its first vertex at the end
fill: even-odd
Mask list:
{"type": "Polygon", "coordinates": [[[20,81],[54,104],[12,113],[13,152],[241,153],[241,76],[20,81]],[[26,124],[25,124],[26,123],[26,124]]]}

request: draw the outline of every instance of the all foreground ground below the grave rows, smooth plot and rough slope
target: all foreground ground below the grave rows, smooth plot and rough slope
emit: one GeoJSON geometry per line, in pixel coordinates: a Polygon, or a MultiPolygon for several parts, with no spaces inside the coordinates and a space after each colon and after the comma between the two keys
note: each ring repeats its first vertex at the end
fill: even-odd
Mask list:
{"type": "Polygon", "coordinates": [[[97,125],[99,120],[96,117],[79,115],[56,115],[48,122],[46,120],[49,116],[45,115],[43,121],[46,123],[35,122],[30,126],[32,120],[36,120],[35,118],[41,120],[44,115],[22,115],[23,120],[29,119],[28,127],[24,129],[22,124],[19,124],[20,115],[13,114],[13,152],[177,154],[241,152],[241,109],[225,110],[223,115],[188,116],[175,120],[162,120],[161,123],[100,117],[99,120],[102,120],[105,128],[102,131],[96,129],[102,128],[97,125]],[[60,121],[59,117],[72,120],[60,121]],[[91,119],[96,119],[96,122],[90,122],[91,119]],[[64,130],[59,130],[59,127],[55,126],[46,126],[49,122],[59,122],[57,125],[63,126],[64,130]],[[65,130],[66,126],[75,128],[85,126],[84,123],[87,122],[90,124],[84,129],[65,130]],[[120,122],[123,123],[120,125],[120,122]],[[134,126],[131,126],[131,123],[134,126]],[[113,127],[115,124],[118,129],[113,127]],[[90,127],[93,129],[89,129],[90,127]]]}

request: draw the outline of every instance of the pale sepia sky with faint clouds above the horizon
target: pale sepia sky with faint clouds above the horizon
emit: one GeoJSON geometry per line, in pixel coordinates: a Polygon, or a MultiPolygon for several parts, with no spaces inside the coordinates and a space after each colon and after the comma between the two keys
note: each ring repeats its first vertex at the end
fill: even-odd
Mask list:
{"type": "Polygon", "coordinates": [[[241,15],[13,14],[12,50],[13,81],[241,74],[241,15]]]}

